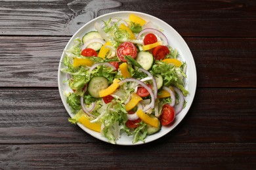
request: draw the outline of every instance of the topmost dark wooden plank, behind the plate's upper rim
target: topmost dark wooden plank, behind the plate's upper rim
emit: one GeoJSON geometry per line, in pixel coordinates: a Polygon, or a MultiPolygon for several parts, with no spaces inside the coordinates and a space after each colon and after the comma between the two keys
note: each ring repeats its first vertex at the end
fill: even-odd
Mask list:
{"type": "Polygon", "coordinates": [[[13,2],[0,1],[1,35],[73,35],[96,16],[133,10],[160,18],[184,37],[256,36],[256,2],[253,0],[13,2]]]}

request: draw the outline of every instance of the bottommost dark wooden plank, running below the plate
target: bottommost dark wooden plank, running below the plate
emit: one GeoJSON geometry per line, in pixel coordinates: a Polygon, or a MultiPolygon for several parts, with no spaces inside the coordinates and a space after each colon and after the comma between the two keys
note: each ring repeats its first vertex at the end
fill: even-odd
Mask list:
{"type": "Polygon", "coordinates": [[[2,169],[255,169],[255,143],[0,145],[2,169]],[[171,152],[166,152],[169,150],[171,152]]]}

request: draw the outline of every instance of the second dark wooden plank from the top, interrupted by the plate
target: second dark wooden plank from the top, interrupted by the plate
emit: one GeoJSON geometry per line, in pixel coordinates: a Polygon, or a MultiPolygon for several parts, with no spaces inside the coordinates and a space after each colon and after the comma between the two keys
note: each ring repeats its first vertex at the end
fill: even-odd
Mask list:
{"type": "MultiPolygon", "coordinates": [[[[0,37],[0,87],[57,87],[58,63],[69,39],[0,37]]],[[[196,63],[198,87],[256,87],[255,38],[185,41],[196,63]]]]}

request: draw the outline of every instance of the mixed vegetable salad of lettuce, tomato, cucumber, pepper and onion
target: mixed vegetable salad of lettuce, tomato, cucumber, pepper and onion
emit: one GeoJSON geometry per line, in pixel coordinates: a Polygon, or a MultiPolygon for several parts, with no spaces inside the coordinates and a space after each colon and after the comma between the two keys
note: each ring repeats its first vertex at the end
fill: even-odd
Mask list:
{"type": "Polygon", "coordinates": [[[116,143],[122,133],[133,143],[171,126],[186,107],[186,62],[181,61],[158,25],[129,19],[95,22],[65,50],[63,73],[70,91],[69,122],[116,143]]]}

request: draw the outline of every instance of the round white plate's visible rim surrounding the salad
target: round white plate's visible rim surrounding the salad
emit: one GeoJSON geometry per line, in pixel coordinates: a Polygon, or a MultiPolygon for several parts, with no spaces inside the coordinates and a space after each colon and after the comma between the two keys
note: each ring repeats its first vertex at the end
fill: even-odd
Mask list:
{"type": "MultiPolygon", "coordinates": [[[[112,12],[110,14],[104,14],[102,16],[99,16],[98,18],[95,18],[94,20],[91,20],[87,24],[83,25],[83,27],[81,27],[81,29],[79,29],[73,35],[73,37],[70,39],[70,41],[68,42],[68,44],[66,45],[64,50],[69,49],[72,46],[72,42],[74,41],[75,38],[83,37],[83,35],[85,33],[87,33],[88,31],[96,30],[93,26],[95,24],[95,22],[102,22],[102,20],[106,21],[109,18],[114,18],[114,17],[128,19],[129,14],[131,14],[131,13],[136,14],[137,16],[140,16],[141,18],[143,18],[146,21],[151,21],[154,24],[158,25],[161,29],[163,29],[163,33],[166,35],[166,37],[169,41],[169,44],[173,48],[177,48],[177,50],[180,54],[181,60],[186,61],[186,63],[187,63],[187,70],[186,70],[187,78],[185,80],[185,88],[186,88],[186,90],[188,90],[189,94],[185,97],[186,107],[177,115],[175,122],[173,122],[173,124],[171,124],[171,126],[163,126],[159,133],[156,133],[154,135],[150,135],[150,136],[146,137],[144,143],[149,143],[149,142],[159,139],[163,135],[169,133],[181,122],[181,120],[184,118],[184,116],[187,114],[188,110],[190,109],[190,106],[192,105],[192,101],[194,99],[194,95],[196,93],[196,80],[197,80],[196,65],[194,63],[194,58],[192,56],[192,53],[190,52],[190,49],[188,48],[188,45],[186,44],[184,39],[182,39],[181,35],[179,35],[179,33],[177,33],[177,31],[175,31],[175,29],[173,29],[173,27],[171,27],[167,23],[163,22],[162,20],[160,20],[154,16],[150,16],[148,14],[144,14],[141,12],[133,12],[133,11],[112,12]]],[[[64,59],[64,52],[62,53],[62,56],[60,58],[60,64],[58,67],[58,89],[59,89],[60,97],[62,99],[62,103],[64,104],[64,107],[66,108],[68,114],[70,114],[70,117],[73,117],[74,114],[72,114],[70,107],[67,105],[66,97],[64,95],[64,90],[70,91],[68,84],[64,83],[64,80],[66,80],[67,75],[66,75],[66,73],[60,72],[60,69],[62,69],[62,67],[64,67],[64,65],[62,64],[63,59],[64,59]]],[[[68,120],[67,120],[67,122],[68,122],[68,120]]],[[[96,137],[97,139],[100,139],[101,141],[108,142],[108,139],[106,139],[105,137],[100,135],[100,133],[92,131],[91,129],[87,129],[82,124],[78,124],[78,126],[80,126],[84,131],[86,131],[93,137],[96,137]]],[[[133,141],[132,136],[128,137],[127,135],[123,134],[123,135],[121,135],[120,139],[117,140],[116,144],[120,144],[120,145],[143,144],[143,142],[138,142],[138,143],[133,144],[132,141],[133,141]]]]}

